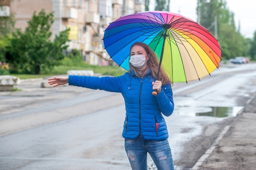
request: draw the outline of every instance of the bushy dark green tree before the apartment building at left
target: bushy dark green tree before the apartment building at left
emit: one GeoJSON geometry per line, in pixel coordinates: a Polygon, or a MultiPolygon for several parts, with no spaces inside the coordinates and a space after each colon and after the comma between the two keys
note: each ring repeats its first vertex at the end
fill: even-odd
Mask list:
{"type": "Polygon", "coordinates": [[[38,15],[34,12],[25,31],[17,29],[13,34],[7,58],[17,72],[40,74],[40,70],[59,65],[65,57],[62,51],[68,47],[69,30],[62,31],[52,42],[53,16],[53,12],[46,14],[44,10],[38,15]]]}

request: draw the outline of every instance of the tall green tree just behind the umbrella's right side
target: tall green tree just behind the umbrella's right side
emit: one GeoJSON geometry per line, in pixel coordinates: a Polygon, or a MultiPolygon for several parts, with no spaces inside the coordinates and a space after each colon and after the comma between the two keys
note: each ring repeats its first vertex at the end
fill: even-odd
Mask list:
{"type": "Polygon", "coordinates": [[[247,54],[246,41],[236,29],[234,13],[227,9],[225,1],[198,0],[197,12],[198,22],[218,39],[223,59],[247,54]]]}

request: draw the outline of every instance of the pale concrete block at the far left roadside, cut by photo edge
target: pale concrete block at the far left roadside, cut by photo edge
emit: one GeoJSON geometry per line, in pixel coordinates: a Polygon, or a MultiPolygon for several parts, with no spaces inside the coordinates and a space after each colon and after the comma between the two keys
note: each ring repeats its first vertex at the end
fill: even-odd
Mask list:
{"type": "Polygon", "coordinates": [[[14,85],[20,84],[20,78],[11,75],[0,76],[0,91],[11,91],[14,85]]]}

